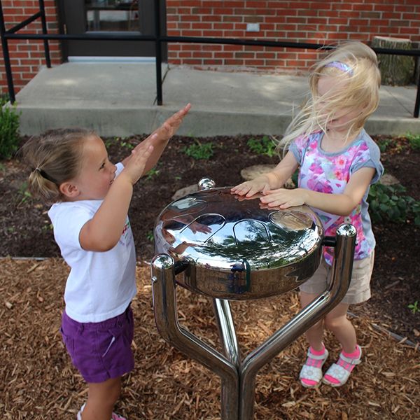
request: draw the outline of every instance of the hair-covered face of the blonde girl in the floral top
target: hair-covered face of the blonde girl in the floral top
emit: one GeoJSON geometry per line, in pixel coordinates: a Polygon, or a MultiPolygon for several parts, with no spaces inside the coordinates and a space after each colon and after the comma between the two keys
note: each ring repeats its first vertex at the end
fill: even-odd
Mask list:
{"type": "MultiPolygon", "coordinates": [[[[328,98],[336,98],[337,93],[345,89],[346,80],[337,80],[332,76],[321,76],[318,80],[318,98],[321,101],[318,105],[318,113],[322,116],[330,113],[330,102],[328,98]],[[325,107],[325,108],[324,108],[325,107]]],[[[360,106],[361,108],[361,106],[360,106]]],[[[337,109],[332,115],[328,116],[326,128],[346,132],[350,124],[360,115],[360,109],[342,108],[337,109]]]]}

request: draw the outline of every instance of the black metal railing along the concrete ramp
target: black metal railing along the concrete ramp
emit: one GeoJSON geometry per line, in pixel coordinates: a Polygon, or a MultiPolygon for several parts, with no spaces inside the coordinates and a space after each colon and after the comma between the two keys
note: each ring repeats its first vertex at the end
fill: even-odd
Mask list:
{"type": "MultiPolygon", "coordinates": [[[[38,39],[43,40],[45,51],[45,63],[49,68],[51,66],[50,50],[48,48],[48,40],[54,41],[153,41],[155,42],[155,59],[156,59],[156,97],[158,105],[162,105],[162,43],[183,42],[183,43],[212,43],[226,45],[258,45],[262,47],[274,48],[298,48],[305,50],[330,50],[335,45],[321,45],[316,43],[299,43],[285,41],[260,41],[255,39],[235,39],[235,38],[200,38],[190,36],[165,36],[162,35],[160,29],[160,1],[154,1],[155,4],[155,35],[135,35],[135,34],[48,34],[45,20],[45,8],[43,0],[38,0],[39,12],[27,18],[20,24],[6,31],[3,18],[3,6],[0,0],[0,35],[1,46],[3,48],[3,59],[8,84],[8,94],[10,102],[15,102],[15,88],[13,86],[13,75],[10,66],[10,55],[8,50],[9,39],[38,39]],[[17,34],[20,29],[41,18],[42,34],[17,34]]],[[[420,57],[420,50],[399,50],[392,48],[372,48],[377,54],[387,55],[408,55],[412,57],[420,57]]],[[[417,84],[416,102],[414,104],[414,118],[419,118],[420,109],[420,81],[417,84]]]]}

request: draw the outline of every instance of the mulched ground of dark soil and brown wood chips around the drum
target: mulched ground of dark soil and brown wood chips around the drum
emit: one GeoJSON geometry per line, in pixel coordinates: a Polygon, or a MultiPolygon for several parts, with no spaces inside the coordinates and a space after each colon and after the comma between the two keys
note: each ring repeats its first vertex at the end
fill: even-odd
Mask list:
{"type": "MultiPolygon", "coordinates": [[[[232,186],[241,181],[241,169],[275,164],[278,158],[265,153],[269,143],[263,138],[174,137],[160,164],[134,189],[130,220],[139,260],[139,295],[133,302],[137,368],[125,378],[118,406],[129,419],[220,418],[218,378],[165,344],[155,330],[147,263],[154,253],[155,220],[174,193],[204,176],[218,187],[232,186]],[[251,150],[250,144],[259,143],[260,151],[251,150]],[[199,144],[197,155],[186,153],[199,144]],[[212,155],[202,153],[209,149],[212,155]]],[[[105,139],[111,160],[118,162],[141,139],[144,136],[105,139]]],[[[378,209],[372,211],[377,239],[372,298],[351,307],[364,363],[345,387],[308,393],[296,380],[306,346],[303,339],[297,340],[258,375],[255,419],[418,418],[420,151],[407,137],[375,140],[386,174],[398,183],[372,188],[370,198],[372,207],[378,200],[378,209]]],[[[0,160],[0,412],[13,419],[65,420],[73,418],[85,398],[83,381],[74,374],[58,332],[68,268],[52,237],[48,207],[27,192],[27,174],[19,158],[0,160]]],[[[179,296],[182,324],[216,343],[211,302],[183,290],[179,296]]],[[[289,293],[232,305],[238,338],[247,353],[283,325],[298,302],[295,293],[289,293]]],[[[328,344],[330,337],[326,340],[328,344]]],[[[339,349],[333,345],[335,357],[339,349]]]]}

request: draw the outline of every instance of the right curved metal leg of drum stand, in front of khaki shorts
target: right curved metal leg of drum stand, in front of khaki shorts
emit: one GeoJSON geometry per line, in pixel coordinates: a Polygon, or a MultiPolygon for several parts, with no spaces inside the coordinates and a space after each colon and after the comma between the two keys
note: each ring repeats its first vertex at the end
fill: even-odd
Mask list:
{"type": "Polygon", "coordinates": [[[255,377],[258,370],[341,302],[349,289],[355,244],[356,229],[353,225],[340,226],[337,229],[330,288],[244,359],[240,367],[239,419],[253,419],[255,377]]]}

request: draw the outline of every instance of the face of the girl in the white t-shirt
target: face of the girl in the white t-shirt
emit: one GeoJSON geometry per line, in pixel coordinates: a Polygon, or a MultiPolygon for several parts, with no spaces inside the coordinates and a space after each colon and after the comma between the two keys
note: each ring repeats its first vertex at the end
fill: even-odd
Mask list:
{"type": "Polygon", "coordinates": [[[116,177],[116,165],[109,162],[104,141],[90,136],[83,145],[80,174],[74,180],[80,195],[77,200],[102,200],[116,177]]]}

